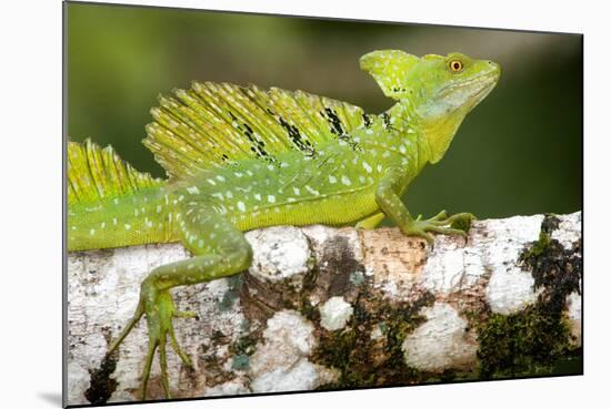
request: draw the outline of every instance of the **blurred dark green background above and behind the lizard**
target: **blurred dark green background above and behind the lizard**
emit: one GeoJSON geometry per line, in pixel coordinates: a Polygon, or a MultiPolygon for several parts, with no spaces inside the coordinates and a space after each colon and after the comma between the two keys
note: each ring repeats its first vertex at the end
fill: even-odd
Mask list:
{"type": "Polygon", "coordinates": [[[499,62],[503,74],[445,157],[410,187],[412,213],[447,208],[484,218],[581,208],[581,35],[66,7],[69,137],[112,144],[141,171],[163,176],[140,142],[157,95],[192,80],[301,89],[379,113],[392,101],[359,70],[360,55],[458,51],[499,62]]]}

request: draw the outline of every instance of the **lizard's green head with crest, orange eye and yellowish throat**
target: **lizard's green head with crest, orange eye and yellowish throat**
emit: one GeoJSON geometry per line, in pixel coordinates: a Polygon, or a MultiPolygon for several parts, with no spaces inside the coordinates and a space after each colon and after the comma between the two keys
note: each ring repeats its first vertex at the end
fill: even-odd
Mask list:
{"type": "Polygon", "coordinates": [[[464,116],[492,91],[501,68],[464,54],[428,54],[418,58],[398,50],[373,51],[361,57],[387,96],[409,104],[422,121],[435,163],[445,153],[464,116]]]}

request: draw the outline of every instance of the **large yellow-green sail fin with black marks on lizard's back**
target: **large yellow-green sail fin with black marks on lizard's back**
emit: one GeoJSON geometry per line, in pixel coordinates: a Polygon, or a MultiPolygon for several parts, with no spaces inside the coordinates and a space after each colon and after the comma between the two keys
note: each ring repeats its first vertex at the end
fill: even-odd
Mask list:
{"type": "Polygon", "coordinates": [[[144,145],[172,178],[242,159],[273,163],[290,150],[315,155],[330,140],[350,140],[367,116],[359,106],[303,91],[196,82],[160,96],[144,145]]]}

